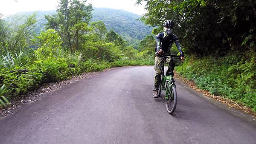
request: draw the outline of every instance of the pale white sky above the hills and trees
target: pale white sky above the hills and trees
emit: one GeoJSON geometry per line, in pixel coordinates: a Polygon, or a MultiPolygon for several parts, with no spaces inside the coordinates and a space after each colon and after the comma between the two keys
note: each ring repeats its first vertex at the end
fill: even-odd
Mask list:
{"type": "MultiPolygon", "coordinates": [[[[145,14],[143,6],[134,6],[137,0],[87,0],[97,8],[124,9],[135,14],[145,14]]],[[[4,17],[20,11],[54,10],[58,0],[0,0],[0,13],[4,17]]]]}

